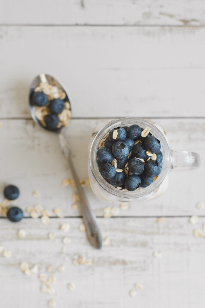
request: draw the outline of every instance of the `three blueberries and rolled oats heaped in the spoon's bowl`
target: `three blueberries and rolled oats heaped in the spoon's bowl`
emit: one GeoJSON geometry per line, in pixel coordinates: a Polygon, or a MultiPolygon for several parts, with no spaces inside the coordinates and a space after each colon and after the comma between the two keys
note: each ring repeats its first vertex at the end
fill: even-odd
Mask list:
{"type": "Polygon", "coordinates": [[[40,88],[40,85],[31,93],[31,103],[33,106],[36,106],[36,118],[49,130],[67,126],[71,117],[71,111],[70,103],[66,99],[65,92],[59,93],[57,87],[49,84],[46,84],[46,88],[45,86],[40,88]],[[58,98],[54,98],[51,94],[47,95],[43,92],[46,90],[46,93],[50,93],[49,87],[55,88],[55,95],[58,98]]]}

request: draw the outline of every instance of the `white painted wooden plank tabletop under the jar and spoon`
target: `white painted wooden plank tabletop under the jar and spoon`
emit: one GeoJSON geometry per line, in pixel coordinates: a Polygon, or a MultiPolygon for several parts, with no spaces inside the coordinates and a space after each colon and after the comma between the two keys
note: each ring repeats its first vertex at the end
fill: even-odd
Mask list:
{"type": "MultiPolygon", "coordinates": [[[[202,308],[205,303],[205,2],[8,0],[0,10],[0,165],[1,192],[8,183],[21,191],[22,209],[41,203],[62,209],[45,226],[27,212],[20,223],[0,219],[0,244],[12,257],[0,256],[0,307],[43,308],[202,308]],[[199,152],[201,168],[173,172],[166,193],[132,203],[116,217],[103,218],[105,201],[85,192],[103,237],[110,245],[97,251],[79,231],[80,212],[71,205],[71,177],[55,135],[31,120],[29,84],[40,72],[59,79],[73,99],[67,131],[80,179],[88,177],[87,144],[94,126],[127,115],[154,118],[175,150],[199,152]],[[38,190],[39,197],[32,195],[38,190]],[[191,215],[198,215],[195,225],[191,215]],[[158,217],[166,217],[158,223],[158,217]],[[71,225],[59,230],[60,222],[71,225]],[[26,237],[19,239],[19,228],[26,237]],[[201,238],[193,236],[200,229],[201,238]],[[48,239],[54,232],[56,239],[48,239]],[[62,250],[62,239],[71,241],[62,250]],[[161,258],[153,257],[162,252],[161,258]],[[75,266],[83,256],[91,265],[75,266]],[[21,262],[53,265],[55,294],[40,292],[38,274],[27,276],[21,262]],[[65,265],[59,273],[57,267],[65,265]],[[74,283],[75,291],[67,288],[74,283]],[[134,284],[143,285],[129,296],[134,284]]],[[[1,195],[3,200],[3,194],[1,195]]],[[[47,273],[49,275],[49,273],[47,273]]]]}

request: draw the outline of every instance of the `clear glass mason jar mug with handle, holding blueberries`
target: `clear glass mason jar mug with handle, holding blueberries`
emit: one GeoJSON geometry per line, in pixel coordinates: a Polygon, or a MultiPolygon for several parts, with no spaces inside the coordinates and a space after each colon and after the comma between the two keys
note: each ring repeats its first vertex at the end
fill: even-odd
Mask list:
{"type": "Polygon", "coordinates": [[[100,123],[92,132],[89,142],[89,159],[88,159],[88,174],[92,191],[96,196],[110,202],[123,202],[123,201],[140,201],[149,200],[159,197],[165,192],[168,186],[169,172],[174,168],[189,170],[197,168],[200,164],[200,157],[195,152],[176,152],[169,148],[166,133],[164,129],[157,123],[143,120],[135,117],[126,117],[114,120],[105,125],[100,123]],[[109,133],[109,131],[118,126],[130,126],[137,124],[144,129],[148,129],[151,134],[161,142],[161,151],[163,154],[162,172],[157,179],[147,186],[140,188],[136,191],[121,191],[110,185],[100,174],[96,153],[99,148],[101,140],[109,133]],[[103,126],[103,127],[102,127],[103,126]]]}

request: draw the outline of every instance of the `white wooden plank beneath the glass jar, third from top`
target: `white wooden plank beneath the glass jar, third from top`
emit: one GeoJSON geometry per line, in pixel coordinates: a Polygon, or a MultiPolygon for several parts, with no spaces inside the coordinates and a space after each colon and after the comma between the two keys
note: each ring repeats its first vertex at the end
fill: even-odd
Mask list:
{"type": "MultiPolygon", "coordinates": [[[[111,119],[110,119],[111,120],[111,119]]],[[[201,167],[190,172],[171,172],[169,188],[161,197],[152,201],[133,203],[127,211],[120,210],[119,216],[166,216],[204,215],[205,209],[195,208],[198,201],[204,200],[203,172],[205,162],[205,124],[203,119],[156,119],[165,130],[174,150],[199,152],[201,167]]],[[[109,122],[106,119],[106,122],[109,122]]],[[[1,139],[1,183],[16,184],[21,194],[18,205],[23,209],[40,202],[46,209],[62,209],[63,216],[78,216],[73,210],[72,186],[63,187],[61,181],[71,178],[67,160],[59,148],[58,136],[43,131],[32,120],[2,120],[1,139]],[[38,190],[39,197],[32,195],[38,190]]],[[[66,138],[72,149],[72,158],[80,179],[88,177],[87,148],[92,130],[104,120],[72,120],[66,138]]],[[[88,200],[96,215],[103,215],[108,204],[94,196],[89,187],[85,188],[88,200]]],[[[117,205],[118,206],[118,205],[117,205]]],[[[25,213],[26,214],[26,213],[25,213]]],[[[27,215],[27,214],[26,214],[27,215]]]]}

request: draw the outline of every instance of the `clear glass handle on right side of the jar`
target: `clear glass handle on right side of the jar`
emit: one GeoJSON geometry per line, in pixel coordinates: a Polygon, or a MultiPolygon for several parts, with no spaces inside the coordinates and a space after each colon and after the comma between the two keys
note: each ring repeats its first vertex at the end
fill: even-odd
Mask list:
{"type": "Polygon", "coordinates": [[[200,165],[200,156],[196,152],[171,150],[171,169],[190,170],[200,165]]]}

